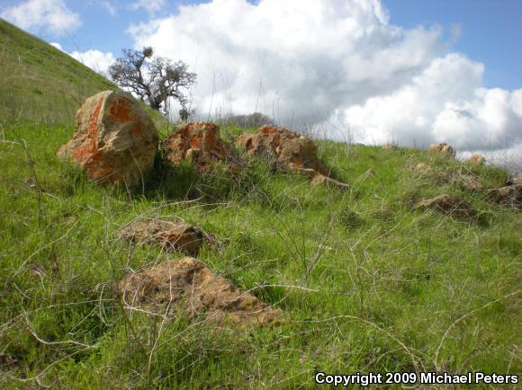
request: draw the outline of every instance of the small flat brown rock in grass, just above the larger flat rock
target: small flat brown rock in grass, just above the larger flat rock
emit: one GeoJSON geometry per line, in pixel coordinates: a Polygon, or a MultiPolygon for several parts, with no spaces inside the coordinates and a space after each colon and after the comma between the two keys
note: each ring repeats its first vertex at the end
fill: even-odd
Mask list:
{"type": "Polygon", "coordinates": [[[166,250],[197,254],[202,247],[204,235],[198,226],[183,222],[151,219],[135,222],[120,231],[121,238],[137,244],[159,244],[166,250]]]}

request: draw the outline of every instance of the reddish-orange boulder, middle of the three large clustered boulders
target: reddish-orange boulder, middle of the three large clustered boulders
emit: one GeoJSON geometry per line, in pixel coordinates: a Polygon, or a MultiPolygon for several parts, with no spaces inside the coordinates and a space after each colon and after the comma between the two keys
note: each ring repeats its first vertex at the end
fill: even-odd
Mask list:
{"type": "Polygon", "coordinates": [[[163,141],[163,152],[172,164],[192,161],[202,170],[211,161],[227,160],[230,147],[220,139],[220,128],[214,123],[193,122],[175,126],[170,137],[163,141]]]}

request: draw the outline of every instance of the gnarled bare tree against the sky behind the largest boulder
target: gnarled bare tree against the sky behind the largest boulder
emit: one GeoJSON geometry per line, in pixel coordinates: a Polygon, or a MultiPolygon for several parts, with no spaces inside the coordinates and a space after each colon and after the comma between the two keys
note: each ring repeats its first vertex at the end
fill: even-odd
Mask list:
{"type": "Polygon", "coordinates": [[[109,67],[109,75],[116,84],[129,88],[154,110],[159,111],[161,103],[172,97],[187,111],[184,91],[193,84],[196,75],[187,71],[183,61],[153,58],[150,47],[141,51],[123,49],[123,55],[109,67]]]}

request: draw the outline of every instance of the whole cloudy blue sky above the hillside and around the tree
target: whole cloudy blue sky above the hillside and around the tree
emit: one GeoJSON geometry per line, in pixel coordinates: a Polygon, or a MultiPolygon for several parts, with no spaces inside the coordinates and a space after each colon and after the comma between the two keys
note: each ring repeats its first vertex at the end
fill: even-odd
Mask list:
{"type": "Polygon", "coordinates": [[[124,48],[181,59],[201,115],[522,155],[522,0],[0,0],[0,16],[100,73],[124,48]]]}

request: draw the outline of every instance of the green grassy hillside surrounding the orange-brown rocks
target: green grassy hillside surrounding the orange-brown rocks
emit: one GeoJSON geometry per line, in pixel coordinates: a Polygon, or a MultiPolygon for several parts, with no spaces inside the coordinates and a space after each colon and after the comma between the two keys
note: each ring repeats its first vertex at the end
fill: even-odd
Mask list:
{"type": "MultiPolygon", "coordinates": [[[[100,188],[55,157],[73,131],[78,84],[67,77],[76,71],[58,50],[0,25],[12,61],[14,50],[55,56],[30,66],[27,54],[31,72],[0,89],[2,102],[38,108],[0,117],[0,387],[312,388],[317,371],[520,373],[520,211],[455,180],[473,174],[493,187],[507,173],[418,149],[321,141],[320,158],[350,191],[255,160],[234,179],[220,164],[203,177],[184,164],[139,194],[100,188]],[[40,49],[14,49],[22,43],[40,49]],[[46,84],[56,100],[31,91],[46,84]],[[431,170],[410,168],[420,162],[431,170]],[[441,193],[470,201],[478,220],[411,208],[441,193]],[[215,332],[123,308],[117,280],[182,255],[121,242],[118,230],[137,217],[202,226],[218,245],[199,259],[281,308],[284,323],[215,332]]],[[[110,85],[86,74],[86,94],[110,85]]]]}

